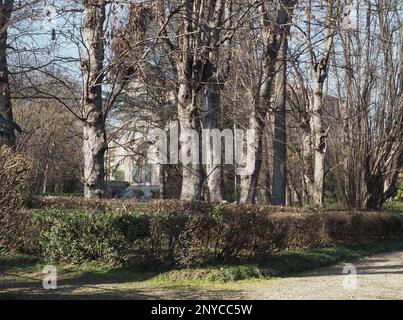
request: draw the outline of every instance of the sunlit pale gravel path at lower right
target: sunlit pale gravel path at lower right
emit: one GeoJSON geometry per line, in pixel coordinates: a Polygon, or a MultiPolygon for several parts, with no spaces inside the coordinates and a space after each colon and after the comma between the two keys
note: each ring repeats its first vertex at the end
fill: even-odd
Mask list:
{"type": "Polygon", "coordinates": [[[403,251],[264,281],[247,290],[253,299],[403,299],[403,251]],[[356,276],[346,274],[352,266],[356,276]]]}

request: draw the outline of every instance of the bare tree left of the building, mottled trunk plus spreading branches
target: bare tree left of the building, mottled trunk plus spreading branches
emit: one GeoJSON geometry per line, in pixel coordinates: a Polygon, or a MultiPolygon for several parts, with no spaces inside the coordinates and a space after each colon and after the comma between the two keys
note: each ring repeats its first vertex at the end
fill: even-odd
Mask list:
{"type": "MultiPolygon", "coordinates": [[[[120,51],[113,50],[114,36],[123,24],[117,19],[121,5],[119,1],[104,0],[50,5],[66,27],[52,29],[49,61],[25,71],[28,79],[34,79],[37,73],[43,77],[43,85],[31,81],[36,97],[54,99],[82,123],[83,184],[88,198],[105,195],[108,116],[132,73],[130,68],[134,68],[129,68],[125,60],[130,49],[138,45],[135,42],[120,51]],[[66,45],[69,50],[64,49],[66,45]],[[48,90],[52,84],[64,88],[69,97],[48,90]]],[[[122,19],[125,17],[122,13],[122,19]]]]}

